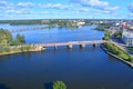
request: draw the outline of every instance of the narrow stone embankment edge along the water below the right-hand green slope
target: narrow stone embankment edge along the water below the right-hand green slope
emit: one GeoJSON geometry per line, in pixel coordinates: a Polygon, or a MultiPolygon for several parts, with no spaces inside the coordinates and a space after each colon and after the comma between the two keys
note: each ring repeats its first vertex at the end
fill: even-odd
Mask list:
{"type": "Polygon", "coordinates": [[[132,67],[133,68],[133,63],[132,62],[129,62],[129,61],[126,61],[126,60],[124,60],[124,59],[122,59],[122,58],[120,58],[120,57],[117,57],[116,55],[114,55],[114,53],[112,53],[112,52],[109,52],[108,51],[108,49],[106,48],[104,48],[104,46],[103,44],[100,44],[100,47],[108,53],[108,55],[110,55],[110,56],[112,56],[112,57],[114,57],[114,58],[116,58],[116,59],[119,59],[119,60],[121,60],[122,62],[124,62],[125,65],[127,65],[127,66],[130,66],[130,67],[132,67]]]}

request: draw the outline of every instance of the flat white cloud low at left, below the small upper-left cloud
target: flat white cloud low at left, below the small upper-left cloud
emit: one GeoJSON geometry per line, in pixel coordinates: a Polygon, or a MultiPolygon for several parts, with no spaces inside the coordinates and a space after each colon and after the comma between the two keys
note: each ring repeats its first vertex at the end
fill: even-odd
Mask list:
{"type": "Polygon", "coordinates": [[[7,10],[6,13],[14,13],[14,14],[27,14],[30,13],[30,10],[21,9],[21,10],[7,10]]]}

